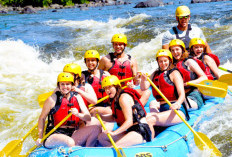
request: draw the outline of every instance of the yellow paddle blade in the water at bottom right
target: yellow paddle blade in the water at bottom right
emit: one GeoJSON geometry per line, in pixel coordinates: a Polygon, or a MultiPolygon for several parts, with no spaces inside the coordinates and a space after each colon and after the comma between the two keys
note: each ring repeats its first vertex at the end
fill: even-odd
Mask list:
{"type": "Polygon", "coordinates": [[[197,134],[201,137],[201,139],[205,142],[202,143],[199,138],[197,138],[197,136],[194,135],[194,141],[196,146],[200,149],[200,150],[204,150],[204,149],[210,149],[211,155],[216,155],[216,156],[222,156],[222,153],[217,149],[217,147],[213,144],[213,142],[203,133],[201,132],[197,132],[197,134]]]}

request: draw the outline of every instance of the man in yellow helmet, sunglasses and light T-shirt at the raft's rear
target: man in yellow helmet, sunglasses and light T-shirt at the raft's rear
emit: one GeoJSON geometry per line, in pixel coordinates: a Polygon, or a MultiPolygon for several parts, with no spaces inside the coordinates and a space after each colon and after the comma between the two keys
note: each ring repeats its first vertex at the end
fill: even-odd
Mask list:
{"type": "Polygon", "coordinates": [[[202,30],[189,24],[190,10],[187,6],[179,6],[176,9],[176,20],[178,25],[172,27],[169,31],[165,32],[162,39],[162,48],[169,49],[169,43],[173,39],[180,39],[186,45],[186,50],[189,50],[188,45],[192,38],[201,38],[205,41],[206,52],[211,53],[211,49],[206,42],[205,36],[202,30]]]}

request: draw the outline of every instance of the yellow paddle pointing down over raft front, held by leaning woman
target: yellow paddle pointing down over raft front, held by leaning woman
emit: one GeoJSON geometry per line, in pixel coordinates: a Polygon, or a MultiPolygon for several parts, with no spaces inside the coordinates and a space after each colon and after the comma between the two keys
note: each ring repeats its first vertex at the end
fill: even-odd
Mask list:
{"type": "MultiPolygon", "coordinates": [[[[105,126],[105,124],[103,123],[103,121],[102,121],[102,119],[101,119],[101,117],[99,116],[98,113],[96,114],[96,117],[97,117],[97,119],[100,121],[100,123],[101,123],[103,129],[106,130],[106,126],[105,126]]],[[[115,151],[117,152],[117,157],[126,157],[126,154],[124,153],[123,149],[117,147],[117,145],[116,145],[116,143],[114,142],[113,138],[111,137],[110,133],[108,133],[107,136],[108,136],[108,138],[109,138],[111,144],[113,145],[115,151]]]]}

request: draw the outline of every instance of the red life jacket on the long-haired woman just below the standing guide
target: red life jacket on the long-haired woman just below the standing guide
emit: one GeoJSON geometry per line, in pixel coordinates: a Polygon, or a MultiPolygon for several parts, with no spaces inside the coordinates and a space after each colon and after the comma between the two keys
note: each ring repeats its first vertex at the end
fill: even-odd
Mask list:
{"type": "Polygon", "coordinates": [[[184,64],[187,60],[188,60],[188,58],[185,58],[184,60],[179,61],[176,64],[177,69],[180,71],[180,73],[183,77],[184,83],[188,82],[190,80],[197,79],[197,74],[195,72],[189,70],[188,67],[184,64]]]}

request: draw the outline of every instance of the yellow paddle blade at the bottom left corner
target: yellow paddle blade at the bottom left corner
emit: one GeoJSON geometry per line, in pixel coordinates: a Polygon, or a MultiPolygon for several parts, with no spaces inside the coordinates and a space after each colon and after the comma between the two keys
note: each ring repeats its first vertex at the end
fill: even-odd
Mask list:
{"type": "Polygon", "coordinates": [[[20,152],[22,151],[22,142],[21,140],[13,140],[9,142],[0,152],[0,156],[11,156],[11,157],[18,157],[20,152]],[[12,150],[12,148],[14,148],[12,150]]]}

